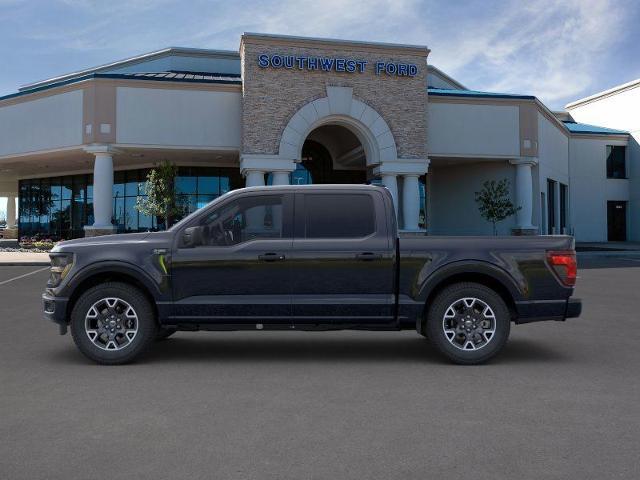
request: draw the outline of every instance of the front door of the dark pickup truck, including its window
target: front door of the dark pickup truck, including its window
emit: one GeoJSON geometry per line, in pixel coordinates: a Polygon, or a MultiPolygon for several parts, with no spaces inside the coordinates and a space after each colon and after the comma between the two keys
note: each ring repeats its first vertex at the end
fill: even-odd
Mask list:
{"type": "Polygon", "coordinates": [[[178,323],[289,324],[293,195],[255,194],[197,222],[200,244],[171,260],[178,323]]]}

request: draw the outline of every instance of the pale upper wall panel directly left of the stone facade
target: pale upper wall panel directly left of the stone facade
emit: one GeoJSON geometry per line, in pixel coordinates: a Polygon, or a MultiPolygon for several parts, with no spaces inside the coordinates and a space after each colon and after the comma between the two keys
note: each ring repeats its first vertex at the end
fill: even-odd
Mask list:
{"type": "Polygon", "coordinates": [[[117,143],[239,149],[241,93],[118,87],[117,143]]]}

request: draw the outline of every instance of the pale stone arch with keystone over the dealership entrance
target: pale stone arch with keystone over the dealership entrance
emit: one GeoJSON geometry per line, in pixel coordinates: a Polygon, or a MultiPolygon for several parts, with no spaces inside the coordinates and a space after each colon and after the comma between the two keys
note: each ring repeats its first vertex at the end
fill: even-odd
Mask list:
{"type": "Polygon", "coordinates": [[[366,163],[379,165],[396,161],[396,142],[391,129],[373,108],[353,98],[350,87],[327,87],[327,96],[307,103],[289,120],[280,138],[278,156],[299,162],[309,134],[323,125],[350,130],[365,151],[366,163]]]}

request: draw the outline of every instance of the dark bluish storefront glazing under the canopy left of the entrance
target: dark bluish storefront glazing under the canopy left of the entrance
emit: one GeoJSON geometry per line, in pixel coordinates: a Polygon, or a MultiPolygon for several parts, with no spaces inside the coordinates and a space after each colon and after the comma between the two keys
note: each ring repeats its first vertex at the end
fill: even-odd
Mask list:
{"type": "MultiPolygon", "coordinates": [[[[164,228],[158,219],[135,208],[137,197],[144,195],[148,172],[143,169],[114,173],[113,224],[119,233],[164,228]]],[[[241,186],[236,168],[180,167],[176,178],[184,200],[184,215],[241,186]]],[[[94,221],[93,175],[21,180],[19,208],[21,236],[53,240],[82,237],[83,227],[94,221]]]]}

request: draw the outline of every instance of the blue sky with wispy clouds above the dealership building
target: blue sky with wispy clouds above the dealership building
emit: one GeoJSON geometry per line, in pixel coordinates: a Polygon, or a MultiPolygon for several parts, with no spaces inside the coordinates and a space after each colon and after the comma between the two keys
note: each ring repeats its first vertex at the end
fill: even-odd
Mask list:
{"type": "Polygon", "coordinates": [[[0,0],[0,95],[168,46],[237,50],[243,32],[426,45],[467,88],[554,110],[640,78],[638,0],[0,0]]]}

